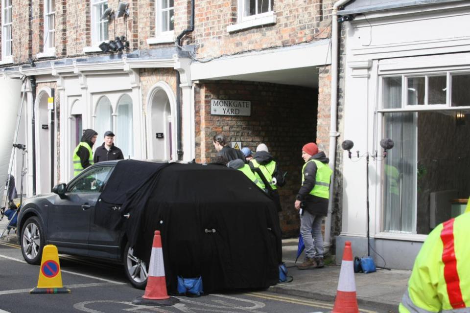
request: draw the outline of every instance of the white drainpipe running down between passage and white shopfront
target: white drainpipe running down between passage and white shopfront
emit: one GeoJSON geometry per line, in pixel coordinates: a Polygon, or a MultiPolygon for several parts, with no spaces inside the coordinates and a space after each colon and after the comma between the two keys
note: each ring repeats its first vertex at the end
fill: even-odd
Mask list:
{"type": "Polygon", "coordinates": [[[331,111],[329,124],[329,166],[333,170],[331,174],[332,188],[329,189],[328,216],[325,221],[325,253],[329,252],[331,247],[331,211],[333,207],[334,196],[334,169],[336,161],[336,137],[337,133],[337,108],[338,108],[338,8],[349,0],[339,0],[333,4],[331,12],[331,111]]]}

